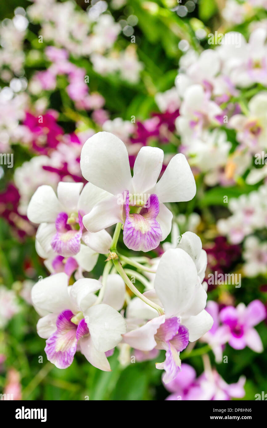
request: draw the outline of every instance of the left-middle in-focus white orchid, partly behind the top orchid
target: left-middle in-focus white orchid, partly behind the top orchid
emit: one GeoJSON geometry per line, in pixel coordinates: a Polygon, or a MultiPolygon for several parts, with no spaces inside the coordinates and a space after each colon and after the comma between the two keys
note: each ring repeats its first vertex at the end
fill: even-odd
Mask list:
{"type": "Polygon", "coordinates": [[[64,262],[71,258],[69,265],[72,268],[78,263],[90,271],[96,265],[99,253],[109,251],[111,236],[108,232],[84,232],[82,223],[82,216],[109,194],[91,183],[82,187],[83,183],[60,181],[56,196],[51,186],[42,185],[30,200],[27,216],[33,223],[40,223],[36,233],[36,251],[48,259],[48,266],[53,265],[53,261],[58,265],[57,256],[60,255],[66,259],[64,262]]]}

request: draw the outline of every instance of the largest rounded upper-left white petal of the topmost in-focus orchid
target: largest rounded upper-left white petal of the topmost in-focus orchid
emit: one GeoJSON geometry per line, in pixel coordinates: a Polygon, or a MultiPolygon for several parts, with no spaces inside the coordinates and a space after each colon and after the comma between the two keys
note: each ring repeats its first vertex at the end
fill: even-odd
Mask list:
{"type": "Polygon", "coordinates": [[[81,150],[81,172],[113,195],[128,190],[132,176],[126,146],[110,132],[94,134],[81,150]]]}

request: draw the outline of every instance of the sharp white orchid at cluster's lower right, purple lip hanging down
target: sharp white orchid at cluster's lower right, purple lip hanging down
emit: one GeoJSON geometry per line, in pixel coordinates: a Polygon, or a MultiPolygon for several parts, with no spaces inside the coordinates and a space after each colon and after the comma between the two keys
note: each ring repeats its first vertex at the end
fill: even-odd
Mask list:
{"type": "MultiPolygon", "coordinates": [[[[165,349],[166,359],[156,367],[165,369],[164,382],[168,383],[179,372],[180,351],[189,341],[194,342],[210,330],[213,319],[204,310],[207,293],[198,278],[196,265],[186,251],[169,249],[162,255],[154,284],[155,289],[146,291],[144,295],[163,306],[165,315],[157,316],[155,311],[153,317],[150,308],[149,321],[128,331],[123,339],[141,351],[165,349]]],[[[142,324],[140,311],[137,318],[142,324]]]]}

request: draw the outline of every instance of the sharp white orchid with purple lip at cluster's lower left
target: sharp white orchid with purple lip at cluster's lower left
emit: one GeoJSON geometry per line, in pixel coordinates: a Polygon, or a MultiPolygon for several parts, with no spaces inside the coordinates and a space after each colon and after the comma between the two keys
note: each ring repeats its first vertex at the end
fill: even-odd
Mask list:
{"type": "Polygon", "coordinates": [[[89,363],[110,371],[105,352],[112,350],[126,332],[120,310],[125,284],[119,275],[109,275],[103,303],[95,292],[102,288],[96,279],[83,278],[68,286],[66,273],[56,273],[33,286],[32,300],[42,315],[37,323],[40,337],[47,339],[45,353],[59,369],[72,364],[77,347],[89,363]]]}

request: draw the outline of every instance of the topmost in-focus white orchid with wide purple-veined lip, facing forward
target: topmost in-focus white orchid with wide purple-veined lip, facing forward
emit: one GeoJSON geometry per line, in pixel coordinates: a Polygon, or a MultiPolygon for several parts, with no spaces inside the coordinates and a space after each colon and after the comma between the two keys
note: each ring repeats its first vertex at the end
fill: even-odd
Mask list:
{"type": "Polygon", "coordinates": [[[182,154],[170,160],[157,182],[163,155],[156,147],[142,147],[132,177],[126,146],[119,138],[108,132],[89,138],[81,152],[82,174],[112,196],[83,217],[86,229],[99,232],[122,222],[123,241],[129,249],[147,252],[158,247],[171,231],[172,214],[164,202],[188,201],[196,191],[193,174],[182,154]]]}

